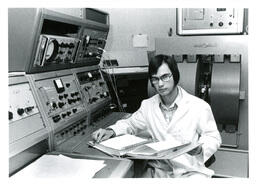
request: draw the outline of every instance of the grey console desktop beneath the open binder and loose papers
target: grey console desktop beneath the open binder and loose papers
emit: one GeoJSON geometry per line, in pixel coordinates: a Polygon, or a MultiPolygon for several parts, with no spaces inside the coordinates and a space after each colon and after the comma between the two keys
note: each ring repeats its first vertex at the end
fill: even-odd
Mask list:
{"type": "MultiPolygon", "coordinates": [[[[126,113],[111,113],[103,120],[94,123],[95,126],[106,128],[119,120],[126,113]]],[[[69,139],[65,143],[57,147],[56,151],[51,154],[62,154],[77,159],[94,159],[104,160],[106,166],[97,172],[94,178],[130,178],[134,175],[134,164],[133,161],[128,159],[114,158],[103,152],[89,147],[88,141],[91,141],[91,131],[85,135],[77,135],[69,139]],[[75,145],[74,145],[75,144],[75,145]]]]}

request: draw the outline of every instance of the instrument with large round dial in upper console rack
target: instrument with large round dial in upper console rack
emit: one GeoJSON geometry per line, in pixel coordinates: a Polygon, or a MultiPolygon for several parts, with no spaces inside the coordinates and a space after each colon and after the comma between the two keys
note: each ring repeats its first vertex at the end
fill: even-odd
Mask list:
{"type": "Polygon", "coordinates": [[[34,65],[74,63],[79,43],[77,38],[40,35],[34,65]]]}

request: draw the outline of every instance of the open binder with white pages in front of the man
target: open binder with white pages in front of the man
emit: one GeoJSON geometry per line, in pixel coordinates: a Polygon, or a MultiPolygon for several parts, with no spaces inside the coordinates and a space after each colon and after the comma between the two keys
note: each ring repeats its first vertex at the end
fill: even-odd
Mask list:
{"type": "Polygon", "coordinates": [[[129,159],[173,159],[202,144],[153,141],[152,139],[126,134],[110,138],[100,143],[89,141],[88,145],[112,157],[129,159]]]}

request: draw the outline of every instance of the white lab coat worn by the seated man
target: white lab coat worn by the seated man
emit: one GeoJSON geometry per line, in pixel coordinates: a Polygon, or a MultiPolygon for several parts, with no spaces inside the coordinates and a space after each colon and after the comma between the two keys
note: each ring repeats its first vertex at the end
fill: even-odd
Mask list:
{"type": "Polygon", "coordinates": [[[116,135],[148,133],[153,139],[173,140],[181,143],[203,143],[202,153],[181,155],[172,160],[150,161],[153,177],[186,177],[201,174],[212,176],[214,172],[204,166],[220,147],[221,137],[210,106],[204,100],[187,93],[178,86],[180,101],[170,123],[159,107],[159,94],[143,100],[140,108],[128,119],[110,126],[116,135]]]}

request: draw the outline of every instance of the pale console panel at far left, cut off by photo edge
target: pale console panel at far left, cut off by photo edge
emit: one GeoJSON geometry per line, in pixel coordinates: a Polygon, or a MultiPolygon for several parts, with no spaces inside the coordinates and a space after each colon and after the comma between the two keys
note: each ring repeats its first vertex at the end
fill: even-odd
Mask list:
{"type": "Polygon", "coordinates": [[[30,84],[24,75],[9,76],[9,155],[17,155],[47,138],[30,84]]]}

